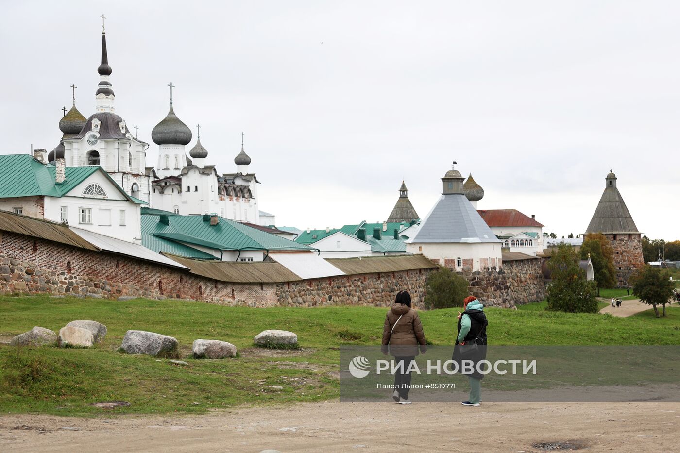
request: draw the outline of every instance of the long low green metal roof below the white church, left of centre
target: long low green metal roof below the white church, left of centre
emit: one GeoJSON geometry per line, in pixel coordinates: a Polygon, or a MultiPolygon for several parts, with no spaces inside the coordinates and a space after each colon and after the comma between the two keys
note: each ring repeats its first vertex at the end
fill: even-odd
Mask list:
{"type": "Polygon", "coordinates": [[[141,217],[146,224],[144,231],[150,235],[217,250],[313,250],[304,244],[296,244],[222,217],[216,225],[203,220],[202,215],[171,216],[169,224],[160,222],[160,216],[155,214],[143,214],[141,217]]]}

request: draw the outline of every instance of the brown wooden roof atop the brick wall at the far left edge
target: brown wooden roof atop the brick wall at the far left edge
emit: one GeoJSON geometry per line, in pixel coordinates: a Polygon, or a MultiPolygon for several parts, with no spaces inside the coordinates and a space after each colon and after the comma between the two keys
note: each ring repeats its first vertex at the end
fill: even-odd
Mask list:
{"type": "Polygon", "coordinates": [[[20,235],[39,237],[40,239],[87,250],[100,250],[61,223],[20,216],[2,210],[0,210],[0,231],[11,231],[20,235]]]}

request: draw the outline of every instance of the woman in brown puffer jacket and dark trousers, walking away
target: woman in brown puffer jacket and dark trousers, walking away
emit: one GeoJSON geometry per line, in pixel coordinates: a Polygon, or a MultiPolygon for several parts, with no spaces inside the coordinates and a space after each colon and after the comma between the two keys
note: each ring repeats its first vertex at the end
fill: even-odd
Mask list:
{"type": "Polygon", "coordinates": [[[396,299],[385,316],[381,348],[383,354],[387,354],[388,345],[397,366],[392,399],[399,404],[411,404],[409,401],[411,372],[408,369],[418,355],[419,345],[423,354],[427,346],[420,317],[418,312],[411,308],[411,295],[408,291],[396,293],[396,299]]]}

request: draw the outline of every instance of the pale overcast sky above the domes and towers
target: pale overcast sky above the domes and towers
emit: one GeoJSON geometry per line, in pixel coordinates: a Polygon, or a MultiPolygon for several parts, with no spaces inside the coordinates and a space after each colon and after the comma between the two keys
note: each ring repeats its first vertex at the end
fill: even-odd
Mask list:
{"type": "Polygon", "coordinates": [[[104,12],[116,113],[151,142],[173,82],[177,116],[194,137],[200,122],[220,173],[245,133],[260,209],[279,226],[385,220],[402,180],[425,216],[455,160],[484,188],[480,209],[535,214],[560,236],[585,230],[611,168],[638,229],[680,239],[677,2],[2,8],[3,153],[58,144],[71,84],[93,113],[104,12]]]}

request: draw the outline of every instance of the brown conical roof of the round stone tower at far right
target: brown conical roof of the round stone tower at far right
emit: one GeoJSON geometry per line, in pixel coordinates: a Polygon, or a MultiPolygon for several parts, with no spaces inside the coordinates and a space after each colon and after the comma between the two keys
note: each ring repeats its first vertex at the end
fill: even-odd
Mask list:
{"type": "Polygon", "coordinates": [[[605,178],[605,192],[602,193],[595,214],[585,233],[640,233],[626,207],[624,198],[616,188],[616,175],[610,172],[605,178]]]}

